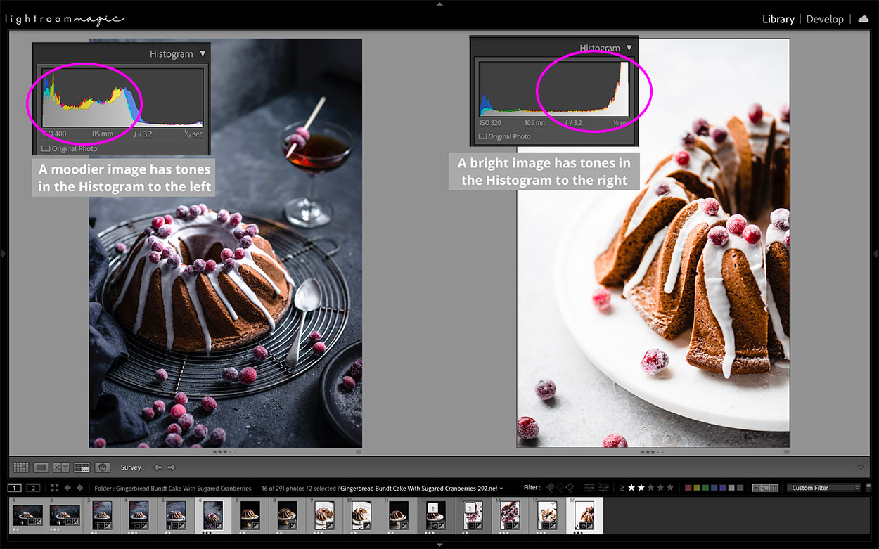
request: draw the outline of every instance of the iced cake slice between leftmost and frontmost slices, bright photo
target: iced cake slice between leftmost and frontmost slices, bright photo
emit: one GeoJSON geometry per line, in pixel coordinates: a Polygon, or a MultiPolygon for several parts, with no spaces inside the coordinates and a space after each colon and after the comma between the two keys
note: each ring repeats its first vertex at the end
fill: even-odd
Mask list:
{"type": "Polygon", "coordinates": [[[641,264],[622,289],[647,325],[674,339],[693,323],[696,267],[708,230],[725,224],[716,199],[697,199],[653,238],[641,264]]]}

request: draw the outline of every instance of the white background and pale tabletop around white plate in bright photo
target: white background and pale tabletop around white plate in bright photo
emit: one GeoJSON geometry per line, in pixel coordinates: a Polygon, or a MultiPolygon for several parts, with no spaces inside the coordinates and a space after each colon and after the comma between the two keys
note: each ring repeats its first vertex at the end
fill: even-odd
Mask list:
{"type": "MultiPolygon", "coordinates": [[[[642,40],[640,47],[640,62],[654,87],[650,109],[641,119],[642,181],[672,152],[694,119],[744,117],[754,101],[777,114],[788,101],[787,40],[642,40]]],[[[642,108],[647,90],[642,75],[642,108]]],[[[541,426],[537,439],[519,445],[596,447],[615,432],[629,446],[787,447],[787,432],[717,427],[657,408],[614,384],[579,350],[556,306],[556,246],[571,217],[608,192],[636,195],[519,191],[519,415],[530,415],[541,426]],[[534,384],[542,378],[558,386],[552,401],[534,395],[534,384]]],[[[584,284],[596,286],[591,271],[585,273],[584,284]]]]}

